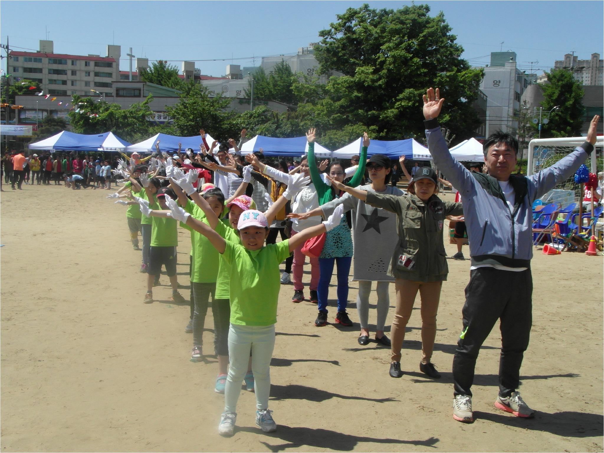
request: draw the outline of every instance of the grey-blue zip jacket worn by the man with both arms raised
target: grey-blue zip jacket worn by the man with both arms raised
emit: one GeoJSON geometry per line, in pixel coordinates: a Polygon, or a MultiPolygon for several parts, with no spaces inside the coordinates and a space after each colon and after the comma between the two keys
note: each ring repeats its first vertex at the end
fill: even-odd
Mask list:
{"type": "Polygon", "coordinates": [[[425,121],[428,149],[439,170],[459,191],[463,202],[472,265],[530,268],[533,257],[532,204],[558,182],[570,178],[594,147],[588,142],[535,175],[510,176],[514,210],[495,178],[469,172],[449,153],[436,119],[425,121]]]}

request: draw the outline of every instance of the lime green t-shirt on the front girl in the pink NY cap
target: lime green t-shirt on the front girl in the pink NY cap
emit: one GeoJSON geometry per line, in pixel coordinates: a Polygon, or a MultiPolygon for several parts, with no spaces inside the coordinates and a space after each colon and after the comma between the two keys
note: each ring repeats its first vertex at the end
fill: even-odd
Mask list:
{"type": "Polygon", "coordinates": [[[226,241],[222,254],[230,265],[231,324],[271,326],[277,323],[277,301],[281,282],[279,265],[289,257],[289,240],[250,251],[226,241]]]}

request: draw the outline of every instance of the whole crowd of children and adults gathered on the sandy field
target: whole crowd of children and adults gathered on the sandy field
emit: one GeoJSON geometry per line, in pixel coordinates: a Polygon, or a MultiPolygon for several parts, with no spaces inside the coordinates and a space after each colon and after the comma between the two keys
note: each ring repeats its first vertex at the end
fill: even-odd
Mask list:
{"type": "MultiPolygon", "coordinates": [[[[220,435],[234,432],[242,385],[255,392],[257,426],[265,432],[277,429],[268,402],[278,295],[281,285],[292,281],[292,303],[306,300],[306,257],[310,260],[308,300],[316,304],[312,315],[316,316],[316,327],[329,321],[329,286],[334,271],[333,322],[353,325],[347,304],[354,262],[352,280],[359,285],[359,345],[371,341],[369,295],[375,282],[373,341],[390,349],[388,372],[394,378],[404,373],[400,361],[405,328],[419,293],[419,370],[439,379],[431,358],[440,294],[448,276],[443,233],[446,219],[462,223],[466,231],[456,231],[455,236],[469,240],[471,277],[453,361],[453,417],[460,422],[474,421],[474,367],[480,347],[497,320],[501,323],[502,348],[495,407],[518,417],[532,417],[535,412],[518,392],[519,370],[532,324],[532,202],[573,175],[585,161],[596,142],[599,117],[594,117],[585,143],[574,152],[536,175],[524,177],[512,174],[518,141],[508,133],[496,132],[486,139],[484,169],[466,169],[455,161],[437,120],[443,102],[438,89],[428,89],[423,97],[423,116],[429,152],[448,177],[449,187],[455,188],[455,202],[439,198],[439,178],[434,169],[416,165],[409,173],[404,158],[399,165],[408,181],[405,190],[391,185],[394,172],[390,159],[381,154],[367,158],[371,146],[367,133],[361,153],[351,159],[351,165],[318,161],[315,129],[307,132],[308,153],[299,161],[269,161],[262,149],[243,157],[239,148],[245,141],[245,129],[239,144],[230,139],[222,144],[214,141],[211,146],[201,130],[199,152],[181,152],[179,147],[169,155],[161,152],[158,141],[153,155],[144,159],[137,153],[123,155],[115,168],[108,161],[93,158],[76,158],[71,164],[66,159],[67,166],[63,166],[65,161],[59,164],[59,157],[53,161],[50,156],[31,166],[32,159],[14,156],[11,181],[13,188],[15,182],[21,188],[24,177],[19,172],[24,170],[14,170],[19,165],[50,175],[59,173],[60,168],[71,173],[69,183],[74,188],[90,182],[95,188],[109,188],[112,176],[120,178],[123,186],[107,198],[127,208],[132,247],[142,251],[140,272],[147,274],[144,303],[153,303],[153,288],[159,284],[162,267],[170,280],[172,300],[187,303],[176,277],[178,226],[190,232],[190,319],[185,332],[192,333],[191,360],[200,361],[211,298],[213,346],[218,359],[214,391],[225,394],[220,435]],[[53,172],[55,167],[57,172],[53,172]],[[109,186],[102,187],[99,175],[109,186]],[[396,310],[388,338],[390,283],[394,283],[396,310]]],[[[54,179],[55,184],[59,184],[57,179],[60,177],[54,179]]],[[[43,178],[42,184],[50,184],[50,178],[43,178]]],[[[463,259],[458,242],[458,259],[460,255],[463,259]]]]}

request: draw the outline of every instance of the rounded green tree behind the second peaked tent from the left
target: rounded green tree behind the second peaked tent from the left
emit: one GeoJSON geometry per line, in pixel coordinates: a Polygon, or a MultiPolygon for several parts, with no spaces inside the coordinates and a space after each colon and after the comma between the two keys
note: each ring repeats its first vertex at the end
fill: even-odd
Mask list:
{"type": "Polygon", "coordinates": [[[175,135],[192,137],[199,134],[199,129],[204,129],[216,140],[225,140],[238,137],[240,132],[236,115],[225,111],[230,103],[230,99],[221,95],[209,97],[208,89],[195,83],[180,95],[178,104],[166,111],[174,119],[175,135]]]}

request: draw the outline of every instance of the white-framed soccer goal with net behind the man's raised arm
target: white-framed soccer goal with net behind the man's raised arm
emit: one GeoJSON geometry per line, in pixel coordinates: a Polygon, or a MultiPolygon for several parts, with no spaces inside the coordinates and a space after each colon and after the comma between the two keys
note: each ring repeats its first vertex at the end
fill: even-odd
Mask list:
{"type": "MultiPolygon", "coordinates": [[[[557,161],[567,156],[573,150],[585,141],[585,137],[564,137],[564,138],[536,138],[528,144],[528,165],[527,175],[534,175],[539,170],[547,169],[557,161]]],[[[604,137],[597,137],[596,146],[590,157],[585,161],[585,165],[590,169],[590,173],[602,172],[604,170],[604,161],[602,150],[604,147],[604,137]]],[[[566,181],[560,182],[541,197],[544,203],[560,203],[562,207],[568,206],[572,202],[580,203],[583,194],[580,193],[580,185],[574,182],[574,175],[566,181]]]]}

